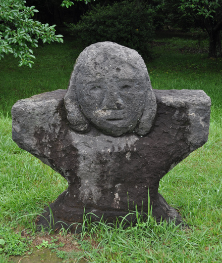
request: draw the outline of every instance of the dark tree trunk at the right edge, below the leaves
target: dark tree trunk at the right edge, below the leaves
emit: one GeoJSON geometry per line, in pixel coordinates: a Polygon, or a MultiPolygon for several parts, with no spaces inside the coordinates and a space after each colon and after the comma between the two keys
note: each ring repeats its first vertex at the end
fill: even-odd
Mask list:
{"type": "Polygon", "coordinates": [[[221,41],[220,41],[220,30],[211,30],[209,33],[210,45],[209,45],[209,58],[218,58],[222,56],[221,52],[221,41]]]}

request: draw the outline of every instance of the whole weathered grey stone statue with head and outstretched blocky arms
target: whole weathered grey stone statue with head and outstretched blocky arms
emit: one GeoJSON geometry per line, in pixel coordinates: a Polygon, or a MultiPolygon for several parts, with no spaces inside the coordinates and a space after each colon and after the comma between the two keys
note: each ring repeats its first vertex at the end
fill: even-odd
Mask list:
{"type": "MultiPolygon", "coordinates": [[[[158,193],[160,179],[208,138],[210,98],[200,90],[152,90],[141,56],[113,42],[87,47],[68,91],[18,101],[13,140],[58,171],[68,189],[50,204],[55,227],[114,222],[129,210],[182,223],[158,193]],[[98,217],[96,217],[98,216],[98,217]],[[60,223],[57,223],[60,222],[60,223]]],[[[47,226],[46,208],[39,225],[47,226]]]]}

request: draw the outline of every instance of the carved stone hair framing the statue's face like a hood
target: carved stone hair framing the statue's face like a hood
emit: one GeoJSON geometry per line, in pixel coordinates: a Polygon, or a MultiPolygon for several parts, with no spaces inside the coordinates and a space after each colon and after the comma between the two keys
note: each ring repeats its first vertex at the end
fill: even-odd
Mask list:
{"type": "MultiPolygon", "coordinates": [[[[93,62],[96,66],[97,64],[103,62],[106,63],[112,59],[118,59],[118,62],[120,61],[123,65],[125,63],[128,65],[130,64],[130,66],[138,72],[138,78],[145,77],[147,90],[145,94],[144,110],[134,129],[136,134],[144,136],[149,133],[156,114],[156,98],[152,91],[147,68],[142,57],[135,50],[120,46],[113,42],[95,43],[87,47],[76,60],[74,70],[69,81],[68,91],[64,98],[67,110],[67,119],[70,122],[72,129],[78,132],[87,133],[90,130],[90,122],[81,111],[78,102],[75,85],[76,78],[79,72],[81,72],[83,68],[87,67],[89,63],[92,64],[93,62]],[[107,56],[107,53],[110,54],[109,57],[107,56]],[[100,59],[99,63],[97,63],[98,59],[100,59]]],[[[90,75],[88,77],[90,78],[90,75]]]]}

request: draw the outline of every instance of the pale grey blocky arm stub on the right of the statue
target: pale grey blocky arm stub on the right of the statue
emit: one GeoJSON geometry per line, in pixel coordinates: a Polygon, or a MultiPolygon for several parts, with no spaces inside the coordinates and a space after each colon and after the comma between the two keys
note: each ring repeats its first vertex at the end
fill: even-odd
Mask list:
{"type": "Polygon", "coordinates": [[[172,121],[183,123],[185,140],[193,151],[207,142],[210,121],[210,98],[201,90],[154,90],[157,105],[174,108],[172,121]],[[183,109],[183,110],[182,110],[183,109]],[[185,116],[179,116],[183,112],[185,116]]]}

